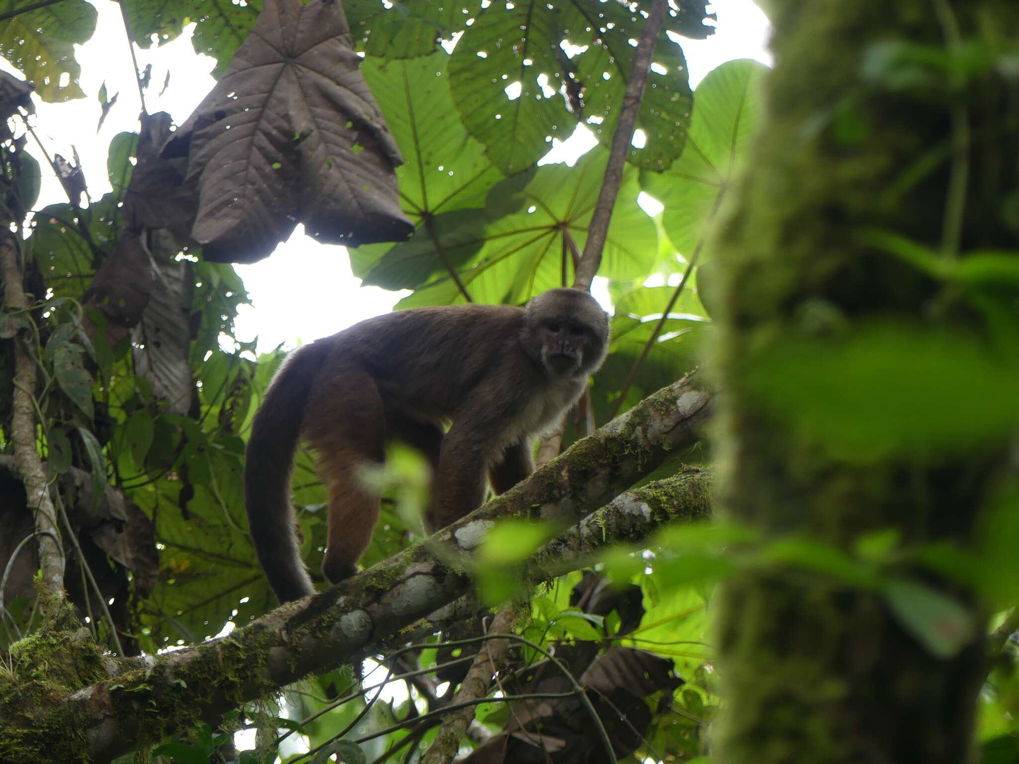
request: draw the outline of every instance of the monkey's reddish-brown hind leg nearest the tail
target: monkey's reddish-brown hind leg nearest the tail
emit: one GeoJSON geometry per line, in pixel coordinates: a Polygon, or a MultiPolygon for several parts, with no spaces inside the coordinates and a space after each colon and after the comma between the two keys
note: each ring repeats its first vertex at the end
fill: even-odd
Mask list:
{"type": "Polygon", "coordinates": [[[337,584],[358,571],[378,522],[379,496],[364,486],[361,470],[382,463],[386,426],[378,388],[366,371],[344,366],[320,378],[305,410],[305,436],[329,489],[322,572],[337,584]]]}

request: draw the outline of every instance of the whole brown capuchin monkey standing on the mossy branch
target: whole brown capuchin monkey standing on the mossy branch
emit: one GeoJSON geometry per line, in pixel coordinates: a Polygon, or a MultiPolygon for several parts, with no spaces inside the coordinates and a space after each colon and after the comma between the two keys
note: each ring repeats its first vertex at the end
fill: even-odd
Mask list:
{"type": "Polygon", "coordinates": [[[389,313],[290,353],[255,415],[245,463],[252,542],[279,601],[315,592],[289,502],[299,440],[329,489],[322,568],[335,584],[357,572],[371,541],[379,497],[358,473],[382,462],[388,439],[430,462],[429,520],[442,528],[481,505],[486,477],[502,493],[531,474],[531,439],[577,401],[607,338],[590,294],[551,289],[525,308],[389,313]]]}

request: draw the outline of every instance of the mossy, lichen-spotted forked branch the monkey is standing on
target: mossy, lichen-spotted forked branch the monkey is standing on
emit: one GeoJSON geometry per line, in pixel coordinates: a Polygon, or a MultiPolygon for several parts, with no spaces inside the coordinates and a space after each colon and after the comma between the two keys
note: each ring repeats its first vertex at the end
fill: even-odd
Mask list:
{"type": "MultiPolygon", "coordinates": [[[[19,726],[18,739],[38,734],[33,742],[45,751],[46,735],[65,729],[88,741],[94,761],[108,761],[195,719],[214,723],[227,710],[309,672],[360,660],[394,641],[407,642],[442,619],[447,606],[458,607],[471,590],[464,564],[496,519],[576,524],[655,470],[671,452],[696,443],[709,402],[697,377],[688,376],[428,541],[339,586],[287,603],[229,637],[147,657],[144,667],[83,688],[48,712],[39,709],[34,717],[38,731],[19,726]],[[182,707],[187,714],[179,713],[182,707]]],[[[595,517],[542,547],[523,570],[524,581],[546,581],[582,566],[595,550],[643,539],[668,520],[703,511],[706,502],[702,473],[619,496],[595,517]]],[[[11,732],[0,721],[0,738],[11,732]]]]}

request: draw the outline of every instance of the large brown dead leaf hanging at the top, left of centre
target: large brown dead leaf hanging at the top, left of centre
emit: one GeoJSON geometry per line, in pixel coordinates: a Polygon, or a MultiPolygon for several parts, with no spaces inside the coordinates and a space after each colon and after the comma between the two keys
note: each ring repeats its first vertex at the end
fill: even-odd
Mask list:
{"type": "Polygon", "coordinates": [[[339,3],[266,0],[226,73],[167,143],[189,157],[205,257],[253,263],[298,223],[327,243],[406,238],[403,163],[339,3]]]}

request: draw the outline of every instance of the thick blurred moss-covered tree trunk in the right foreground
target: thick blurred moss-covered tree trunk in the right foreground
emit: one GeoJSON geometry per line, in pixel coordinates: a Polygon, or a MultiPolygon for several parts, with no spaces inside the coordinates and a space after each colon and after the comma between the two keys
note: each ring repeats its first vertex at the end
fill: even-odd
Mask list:
{"type": "MultiPolygon", "coordinates": [[[[790,337],[845,337],[868,321],[979,334],[963,301],[861,234],[891,231],[947,258],[1019,249],[1005,210],[1019,204],[1016,74],[942,66],[952,68],[953,50],[1014,61],[1019,3],[773,0],[769,10],[767,116],[715,247],[718,503],[766,538],[852,549],[861,535],[894,527],[906,544],[965,548],[1003,449],[840,459],[769,417],[740,372],[790,337]],[[897,43],[941,58],[908,65],[897,43]],[[889,64],[897,56],[905,63],[889,64]]],[[[984,614],[959,585],[923,581],[976,614],[976,636],[953,657],[931,655],[872,591],[779,567],[727,582],[715,760],[971,760],[984,614]]]]}

